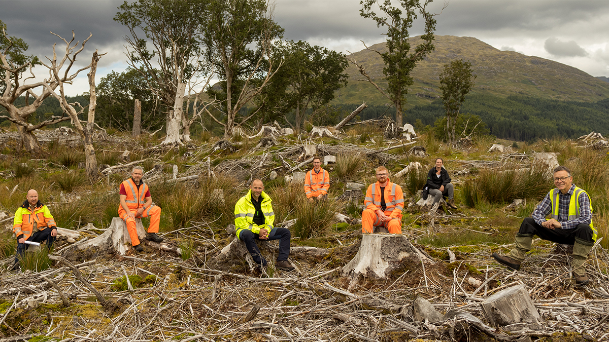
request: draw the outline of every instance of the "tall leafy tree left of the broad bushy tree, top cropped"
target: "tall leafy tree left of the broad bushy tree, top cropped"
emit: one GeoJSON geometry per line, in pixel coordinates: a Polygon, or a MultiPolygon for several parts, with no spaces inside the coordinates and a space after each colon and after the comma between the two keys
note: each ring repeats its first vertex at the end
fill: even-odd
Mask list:
{"type": "Polygon", "coordinates": [[[224,117],[207,111],[211,119],[224,127],[224,136],[233,136],[259,113],[239,116],[241,108],[269,85],[282,61],[271,56],[273,40],[281,38],[283,29],[273,21],[272,8],[265,0],[211,0],[205,18],[206,57],[220,79],[222,89],[209,86],[210,97],[224,117]]]}

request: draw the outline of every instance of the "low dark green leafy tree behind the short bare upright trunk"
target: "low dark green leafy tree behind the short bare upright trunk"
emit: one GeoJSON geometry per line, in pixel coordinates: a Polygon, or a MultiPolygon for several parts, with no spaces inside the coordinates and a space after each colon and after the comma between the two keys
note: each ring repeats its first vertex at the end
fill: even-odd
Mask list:
{"type": "Polygon", "coordinates": [[[142,127],[157,129],[164,124],[165,114],[158,110],[156,96],[147,87],[144,70],[127,68],[112,71],[97,85],[97,123],[130,131],[133,126],[135,100],[141,101],[142,127]]]}

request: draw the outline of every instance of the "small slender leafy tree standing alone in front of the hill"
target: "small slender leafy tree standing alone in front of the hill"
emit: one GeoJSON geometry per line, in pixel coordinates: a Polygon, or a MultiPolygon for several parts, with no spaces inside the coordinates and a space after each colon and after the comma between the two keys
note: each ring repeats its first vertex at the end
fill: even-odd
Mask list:
{"type": "Polygon", "coordinates": [[[455,142],[455,126],[461,105],[465,96],[474,86],[474,79],[470,61],[454,60],[444,65],[440,74],[440,89],[442,89],[442,102],[446,110],[446,134],[449,142],[455,142]]]}

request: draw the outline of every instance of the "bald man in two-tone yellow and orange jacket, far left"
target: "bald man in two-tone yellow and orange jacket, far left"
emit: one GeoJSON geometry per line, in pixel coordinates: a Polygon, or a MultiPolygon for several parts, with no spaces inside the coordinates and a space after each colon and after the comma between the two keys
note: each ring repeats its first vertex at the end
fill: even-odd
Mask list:
{"type": "Polygon", "coordinates": [[[29,190],[26,200],[15,211],[13,220],[13,232],[17,237],[17,253],[13,270],[21,270],[19,258],[29,246],[27,242],[46,241],[46,247],[51,250],[55,237],[57,237],[57,225],[49,208],[38,200],[38,192],[29,190]]]}

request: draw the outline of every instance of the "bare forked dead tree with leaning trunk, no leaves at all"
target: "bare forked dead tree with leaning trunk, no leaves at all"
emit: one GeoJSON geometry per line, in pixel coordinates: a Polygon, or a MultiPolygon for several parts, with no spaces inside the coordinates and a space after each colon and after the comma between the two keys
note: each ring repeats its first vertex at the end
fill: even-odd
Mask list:
{"type": "MultiPolygon", "coordinates": [[[[59,101],[60,106],[62,106],[63,112],[69,115],[70,119],[72,120],[72,125],[74,125],[74,128],[76,128],[76,131],[78,131],[78,133],[80,134],[80,137],[83,139],[83,144],[85,146],[86,174],[89,177],[89,180],[93,182],[94,180],[97,180],[97,178],[99,176],[99,172],[97,171],[97,159],[95,158],[95,148],[93,147],[93,128],[95,125],[95,107],[96,107],[95,73],[97,71],[97,62],[99,61],[99,58],[104,54],[99,55],[96,50],[93,53],[93,58],[91,59],[91,64],[88,66],[85,66],[85,68],[79,69],[76,72],[76,74],[78,74],[80,71],[90,69],[90,72],[88,73],[89,96],[90,96],[89,111],[88,111],[88,118],[86,121],[86,125],[83,126],[80,123],[80,119],[78,116],[79,116],[79,114],[82,114],[85,111],[85,108],[83,108],[83,106],[80,105],[80,103],[78,103],[78,102],[68,103],[68,101],[66,100],[64,82],[62,82],[62,80],[60,79],[59,72],[60,72],[61,66],[63,65],[63,62],[66,59],[76,60],[77,55],[83,51],[83,49],[85,48],[85,43],[86,43],[86,41],[89,40],[89,38],[91,38],[91,35],[89,35],[89,37],[86,38],[86,40],[84,40],[82,42],[80,49],[78,49],[75,52],[74,49],[76,49],[76,47],[79,45],[79,42],[77,41],[75,44],[72,45],[72,43],[74,42],[74,31],[72,31],[72,39],[70,41],[67,41],[65,38],[61,37],[60,35],[57,35],[55,33],[53,33],[53,34],[56,35],[57,37],[59,37],[61,40],[63,40],[64,43],[66,43],[66,51],[65,51],[65,55],[62,58],[62,60],[58,60],[57,52],[55,51],[55,45],[54,45],[53,46],[53,59],[51,60],[51,59],[47,58],[47,59],[49,59],[49,61],[51,61],[50,65],[42,63],[44,66],[46,66],[46,68],[49,68],[49,72],[51,73],[52,77],[55,80],[58,80],[57,83],[59,86],[58,87],[59,94],[57,94],[57,91],[55,91],[54,89],[49,89],[49,92],[51,93],[51,95],[53,97],[55,97],[55,99],[57,99],[59,101]],[[79,110],[76,109],[77,107],[79,107],[79,110]]],[[[45,85],[45,86],[47,86],[47,88],[49,88],[48,85],[45,85]]]]}

